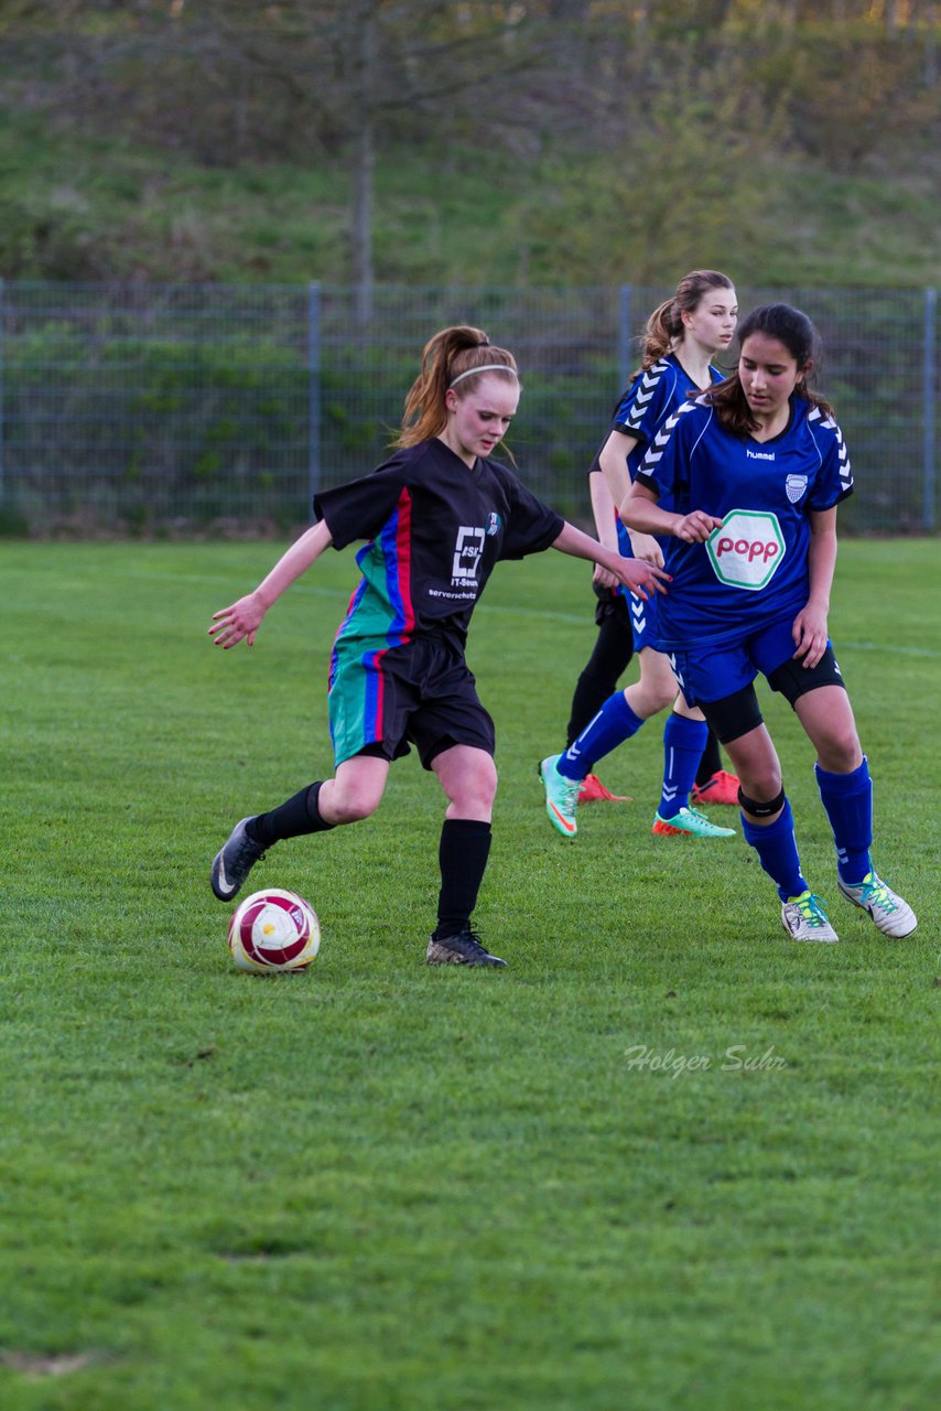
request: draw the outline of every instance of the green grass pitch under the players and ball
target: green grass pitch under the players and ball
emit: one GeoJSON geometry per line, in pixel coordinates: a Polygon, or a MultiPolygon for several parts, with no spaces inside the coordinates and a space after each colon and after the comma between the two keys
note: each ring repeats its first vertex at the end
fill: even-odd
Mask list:
{"type": "Polygon", "coordinates": [[[0,549],[0,1404],[937,1405],[937,542],[845,543],[831,617],[909,941],[839,902],[767,693],[842,944],[784,940],[741,837],[650,835],[656,722],[604,769],[636,801],[552,832],[535,762],[594,628],[585,566],[545,555],[471,635],[501,770],[477,920],[509,969],[422,964],[442,803],[411,758],[372,820],[253,873],[324,935],[258,978],[207,866],[327,768],[354,581],[330,555],[254,650],[213,649],[277,553],[0,549]]]}

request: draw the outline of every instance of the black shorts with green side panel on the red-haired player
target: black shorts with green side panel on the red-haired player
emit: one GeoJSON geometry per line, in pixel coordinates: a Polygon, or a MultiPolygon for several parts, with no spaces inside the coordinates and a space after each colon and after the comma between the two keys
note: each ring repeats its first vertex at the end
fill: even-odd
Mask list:
{"type": "Polygon", "coordinates": [[[422,636],[388,650],[357,642],[336,655],[330,734],[337,765],[354,755],[401,759],[415,745],[425,769],[453,745],[495,751],[494,721],[463,650],[422,636]]]}

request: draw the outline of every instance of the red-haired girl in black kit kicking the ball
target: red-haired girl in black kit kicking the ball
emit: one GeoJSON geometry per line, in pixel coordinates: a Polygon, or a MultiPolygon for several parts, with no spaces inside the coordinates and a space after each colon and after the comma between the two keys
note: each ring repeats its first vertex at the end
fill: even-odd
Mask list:
{"type": "Polygon", "coordinates": [[[374,474],[316,495],[319,523],[254,593],[214,614],[209,631],[217,646],[243,638],[251,646],[268,608],[324,549],[365,540],[357,555],[363,577],[330,660],[336,773],[236,824],[212,866],[220,900],[237,895],[275,842],[374,813],[391,761],[412,742],[447,799],[437,927],[426,958],[505,964],[471,927],[497,792],[494,722],[464,660],[471,612],[501,559],[549,547],[602,563],[636,591],[664,577],[566,523],[491,459],[519,391],[511,353],[491,347],[480,329],[443,329],[425,347],[395,454],[374,474]]]}

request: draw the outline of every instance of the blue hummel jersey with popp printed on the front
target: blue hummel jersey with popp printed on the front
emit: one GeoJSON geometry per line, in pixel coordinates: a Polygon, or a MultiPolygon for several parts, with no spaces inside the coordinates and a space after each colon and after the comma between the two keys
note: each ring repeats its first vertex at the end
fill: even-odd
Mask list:
{"type": "Polygon", "coordinates": [[[680,515],[722,519],[705,543],[666,539],[666,650],[731,642],[796,617],[810,593],[810,515],[854,488],[839,426],[799,396],[784,430],[766,442],[725,430],[701,396],[686,402],[648,447],[638,480],[680,515]]]}

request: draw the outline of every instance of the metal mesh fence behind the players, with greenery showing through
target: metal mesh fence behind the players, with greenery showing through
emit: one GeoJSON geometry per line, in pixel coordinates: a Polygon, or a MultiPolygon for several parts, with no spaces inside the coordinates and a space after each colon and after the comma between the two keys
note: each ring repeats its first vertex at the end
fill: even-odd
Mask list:
{"type": "MultiPolygon", "coordinates": [[[[516,354],[522,477],[585,519],[585,470],[670,291],[0,282],[0,531],[288,528],[371,470],[430,334],[474,323],[516,354]]],[[[742,289],[824,340],[820,387],[856,473],[855,532],[937,528],[934,289],[742,289]]]]}

